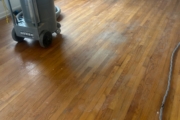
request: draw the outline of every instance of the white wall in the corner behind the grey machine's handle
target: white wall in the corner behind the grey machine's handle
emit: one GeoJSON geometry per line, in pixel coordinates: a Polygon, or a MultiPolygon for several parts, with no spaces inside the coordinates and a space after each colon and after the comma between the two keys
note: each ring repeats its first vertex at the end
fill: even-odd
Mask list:
{"type": "MultiPolygon", "coordinates": [[[[12,5],[13,9],[19,9],[20,8],[19,0],[10,0],[10,1],[11,1],[11,5],[12,5]]],[[[4,18],[5,16],[6,16],[6,12],[4,10],[4,6],[2,4],[2,1],[0,0],[0,19],[4,18]]]]}

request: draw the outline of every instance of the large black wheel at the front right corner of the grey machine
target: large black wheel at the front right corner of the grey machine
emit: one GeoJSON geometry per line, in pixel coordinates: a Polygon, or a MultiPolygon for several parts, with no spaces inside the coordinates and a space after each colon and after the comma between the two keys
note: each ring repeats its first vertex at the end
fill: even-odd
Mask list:
{"type": "Polygon", "coordinates": [[[44,48],[49,47],[52,43],[52,33],[49,31],[43,31],[40,34],[39,43],[44,48]]]}

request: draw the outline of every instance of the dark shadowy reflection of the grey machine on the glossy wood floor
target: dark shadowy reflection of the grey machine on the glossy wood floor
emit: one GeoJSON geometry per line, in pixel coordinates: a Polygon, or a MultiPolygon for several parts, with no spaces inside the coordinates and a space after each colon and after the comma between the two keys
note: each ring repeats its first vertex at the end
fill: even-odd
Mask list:
{"type": "Polygon", "coordinates": [[[38,41],[29,39],[16,44],[15,54],[22,63],[21,68],[30,75],[44,75],[53,81],[67,79],[74,68],[68,64],[64,41],[65,36],[58,35],[49,48],[42,48],[38,41]]]}

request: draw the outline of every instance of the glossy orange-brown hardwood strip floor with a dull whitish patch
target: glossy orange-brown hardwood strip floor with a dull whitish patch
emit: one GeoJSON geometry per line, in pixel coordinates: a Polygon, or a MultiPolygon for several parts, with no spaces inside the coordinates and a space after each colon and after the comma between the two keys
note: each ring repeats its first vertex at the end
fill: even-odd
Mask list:
{"type": "MultiPolygon", "coordinates": [[[[180,0],[56,0],[51,47],[0,21],[0,120],[158,120],[180,0]]],[[[180,120],[180,52],[163,120],[180,120]]]]}

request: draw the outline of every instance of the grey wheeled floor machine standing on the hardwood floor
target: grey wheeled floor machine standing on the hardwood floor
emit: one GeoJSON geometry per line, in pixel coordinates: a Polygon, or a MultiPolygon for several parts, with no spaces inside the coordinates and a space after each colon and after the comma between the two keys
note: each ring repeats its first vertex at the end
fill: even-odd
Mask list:
{"type": "Polygon", "coordinates": [[[24,38],[39,40],[42,47],[52,43],[52,33],[60,34],[61,24],[57,22],[60,9],[53,0],[20,0],[22,12],[15,15],[10,0],[6,1],[14,28],[12,38],[17,42],[24,38]]]}

